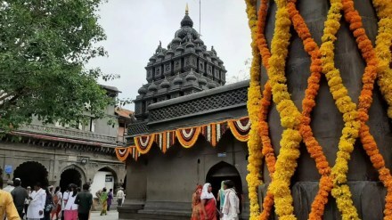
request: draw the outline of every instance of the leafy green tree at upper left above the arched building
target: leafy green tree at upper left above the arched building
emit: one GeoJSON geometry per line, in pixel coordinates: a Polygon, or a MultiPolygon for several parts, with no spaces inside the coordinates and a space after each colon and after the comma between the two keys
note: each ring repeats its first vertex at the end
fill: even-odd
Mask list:
{"type": "Polygon", "coordinates": [[[37,116],[68,124],[86,110],[97,118],[114,99],[97,84],[100,69],[86,63],[105,56],[98,24],[102,0],[0,1],[0,129],[37,116]]]}

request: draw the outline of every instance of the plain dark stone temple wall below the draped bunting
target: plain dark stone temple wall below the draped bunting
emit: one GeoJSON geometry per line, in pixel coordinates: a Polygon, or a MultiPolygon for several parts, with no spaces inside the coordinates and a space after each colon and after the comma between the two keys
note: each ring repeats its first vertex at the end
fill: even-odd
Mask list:
{"type": "Polygon", "coordinates": [[[229,131],[216,148],[201,135],[190,149],[176,143],[163,154],[157,146],[152,146],[151,151],[137,162],[127,162],[127,176],[132,176],[132,180],[127,180],[127,200],[124,209],[120,208],[119,218],[155,219],[153,216],[159,214],[161,218],[156,219],[166,219],[165,216],[167,219],[189,219],[196,184],[205,183],[208,170],[221,161],[233,165],[241,175],[241,190],[246,203],[243,213],[249,213],[246,157],[246,143],[235,140],[229,131]],[[223,152],[226,156],[219,158],[217,153],[223,152]],[[140,203],[144,208],[137,210],[138,215],[132,216],[130,206],[140,203]]]}

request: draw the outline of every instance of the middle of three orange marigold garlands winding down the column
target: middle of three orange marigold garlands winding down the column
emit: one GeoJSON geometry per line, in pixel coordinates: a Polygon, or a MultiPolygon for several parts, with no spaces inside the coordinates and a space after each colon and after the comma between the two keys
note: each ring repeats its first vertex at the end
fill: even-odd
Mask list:
{"type": "Polygon", "coordinates": [[[329,176],[331,174],[331,167],[323,153],[323,148],[314,138],[312,128],[310,127],[310,112],[315,106],[314,99],[320,87],[319,83],[323,68],[319,48],[307,28],[305,20],[299,14],[295,5],[296,2],[296,0],[290,0],[288,4],[290,19],[293,22],[294,29],[298,33],[298,37],[300,37],[304,43],[305,51],[311,56],[311,75],[307,79],[308,86],[305,91],[305,98],[302,101],[300,132],[306,145],[306,150],[309,152],[311,158],[314,159],[319,174],[322,175],[319,183],[319,191],[312,203],[309,219],[322,219],[324,207],[328,202],[328,194],[332,188],[331,177],[329,176]]]}

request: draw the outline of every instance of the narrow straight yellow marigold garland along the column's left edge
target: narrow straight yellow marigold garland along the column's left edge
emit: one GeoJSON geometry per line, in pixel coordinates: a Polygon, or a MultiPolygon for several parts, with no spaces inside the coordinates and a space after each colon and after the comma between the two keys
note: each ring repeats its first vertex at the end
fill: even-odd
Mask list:
{"type": "Polygon", "coordinates": [[[263,155],[261,153],[261,142],[258,136],[259,130],[259,119],[258,110],[260,110],[260,99],[261,99],[261,89],[260,89],[260,56],[257,49],[257,16],[256,16],[256,0],[246,0],[247,4],[247,14],[249,19],[249,29],[252,37],[252,55],[253,60],[250,68],[250,82],[249,82],[249,92],[248,92],[248,113],[249,120],[251,122],[251,127],[249,131],[249,141],[248,141],[248,171],[246,179],[248,182],[249,191],[249,205],[250,205],[250,220],[258,219],[260,208],[258,205],[258,194],[257,187],[261,184],[260,181],[260,167],[262,164],[263,155]]]}

